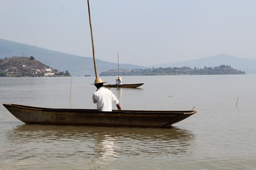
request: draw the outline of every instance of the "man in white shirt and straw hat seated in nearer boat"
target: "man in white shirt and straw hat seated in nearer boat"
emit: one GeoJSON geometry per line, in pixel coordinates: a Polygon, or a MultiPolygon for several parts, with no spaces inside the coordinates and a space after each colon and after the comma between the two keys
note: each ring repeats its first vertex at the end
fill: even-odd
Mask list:
{"type": "Polygon", "coordinates": [[[103,87],[103,82],[100,78],[95,79],[94,85],[97,90],[93,93],[93,103],[97,103],[97,109],[99,111],[112,111],[112,101],[116,104],[118,110],[121,110],[119,101],[117,100],[115,94],[105,87],[103,87]]]}

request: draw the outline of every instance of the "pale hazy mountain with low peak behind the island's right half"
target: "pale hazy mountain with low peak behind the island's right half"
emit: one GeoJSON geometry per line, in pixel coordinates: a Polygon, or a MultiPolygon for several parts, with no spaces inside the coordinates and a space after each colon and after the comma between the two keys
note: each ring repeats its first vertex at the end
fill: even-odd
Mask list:
{"type": "Polygon", "coordinates": [[[229,65],[233,68],[236,68],[241,71],[245,71],[246,74],[256,74],[256,59],[245,59],[239,57],[233,57],[227,54],[219,54],[217,56],[196,59],[196,60],[189,60],[184,62],[174,62],[174,63],[165,63],[165,64],[158,64],[152,65],[150,67],[197,67],[197,68],[204,68],[206,67],[216,67],[219,65],[229,65]]]}

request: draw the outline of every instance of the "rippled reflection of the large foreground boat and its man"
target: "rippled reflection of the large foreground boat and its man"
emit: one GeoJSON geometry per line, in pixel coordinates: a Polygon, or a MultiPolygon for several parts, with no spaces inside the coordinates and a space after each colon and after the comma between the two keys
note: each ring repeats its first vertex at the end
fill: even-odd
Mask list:
{"type": "MultiPolygon", "coordinates": [[[[41,159],[46,156],[47,158],[57,156],[101,160],[114,160],[121,156],[181,157],[191,153],[191,142],[195,138],[196,136],[191,131],[178,128],[18,125],[7,133],[8,148],[10,152],[15,150],[17,159],[24,159],[31,154],[35,156],[34,152],[41,153],[36,156],[41,156],[41,159]]],[[[13,157],[14,155],[5,156],[13,157]]]]}

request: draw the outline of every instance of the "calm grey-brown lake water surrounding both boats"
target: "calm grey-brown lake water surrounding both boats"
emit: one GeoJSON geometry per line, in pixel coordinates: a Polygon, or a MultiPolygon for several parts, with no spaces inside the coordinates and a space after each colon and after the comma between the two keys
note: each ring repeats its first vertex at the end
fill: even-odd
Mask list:
{"type": "Polygon", "coordinates": [[[0,78],[0,169],[256,169],[256,75],[122,78],[145,83],[111,89],[122,109],[197,113],[170,129],[26,125],[2,104],[95,109],[94,77],[0,78]]]}

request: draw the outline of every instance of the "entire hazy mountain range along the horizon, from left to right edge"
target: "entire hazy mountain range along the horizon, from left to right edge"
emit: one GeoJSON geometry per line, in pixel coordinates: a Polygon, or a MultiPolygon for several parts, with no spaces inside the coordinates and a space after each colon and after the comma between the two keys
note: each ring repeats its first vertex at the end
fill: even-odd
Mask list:
{"type": "MultiPolygon", "coordinates": [[[[4,59],[5,57],[9,58],[15,56],[20,57],[22,54],[25,54],[26,57],[33,56],[36,60],[60,71],[68,70],[74,76],[94,76],[92,57],[80,57],[72,54],[47,50],[46,48],[0,39],[0,58],[4,59]]],[[[106,62],[98,59],[96,59],[96,63],[98,74],[111,69],[117,69],[117,63],[106,62]]],[[[229,65],[232,68],[245,71],[246,74],[256,74],[256,59],[238,58],[227,54],[220,54],[217,56],[184,62],[164,63],[147,67],[133,64],[119,64],[121,69],[184,66],[191,68],[204,68],[204,66],[215,67],[220,65],[229,65]]]]}

